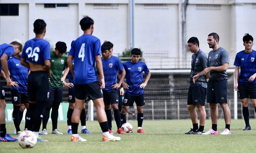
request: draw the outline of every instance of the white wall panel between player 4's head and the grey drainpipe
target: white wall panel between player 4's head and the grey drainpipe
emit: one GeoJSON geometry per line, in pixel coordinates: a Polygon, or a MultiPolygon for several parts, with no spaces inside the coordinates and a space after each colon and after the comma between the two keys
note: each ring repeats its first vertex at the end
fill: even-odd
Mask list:
{"type": "Polygon", "coordinates": [[[117,56],[129,47],[128,4],[85,4],[83,13],[94,20],[93,35],[98,37],[101,43],[110,41],[114,44],[113,55],[117,56]]]}

